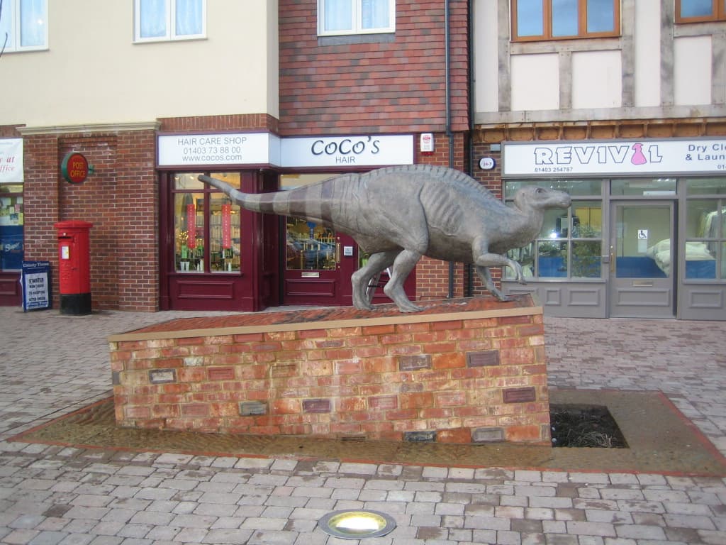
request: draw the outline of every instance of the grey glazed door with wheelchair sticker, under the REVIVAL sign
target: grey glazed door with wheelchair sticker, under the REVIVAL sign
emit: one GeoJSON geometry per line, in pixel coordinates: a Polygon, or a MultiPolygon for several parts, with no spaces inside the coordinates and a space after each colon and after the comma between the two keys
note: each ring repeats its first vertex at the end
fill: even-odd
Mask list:
{"type": "Polygon", "coordinates": [[[674,202],[612,204],[610,315],[672,318],[678,272],[674,202]]]}

